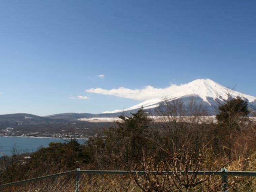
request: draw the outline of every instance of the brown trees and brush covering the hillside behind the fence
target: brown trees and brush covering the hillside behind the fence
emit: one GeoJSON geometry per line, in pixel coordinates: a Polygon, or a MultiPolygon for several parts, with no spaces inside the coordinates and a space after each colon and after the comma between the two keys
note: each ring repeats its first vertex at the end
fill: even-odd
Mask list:
{"type": "MultiPolygon", "coordinates": [[[[120,116],[121,122],[89,139],[87,145],[79,145],[75,140],[51,143],[48,148],[32,153],[28,161],[13,154],[5,162],[8,166],[2,169],[0,182],[80,167],[146,171],[143,177],[134,173],[130,178],[142,191],[218,191],[222,187],[219,177],[202,177],[197,172],[214,172],[224,166],[229,170],[256,169],[256,126],[246,118],[247,104],[237,98],[226,101],[219,109],[216,124],[205,122],[203,116],[207,114],[193,100],[189,110],[184,109],[182,100],[163,102],[157,111],[161,122],[154,122],[141,108],[132,117],[120,116]],[[243,111],[238,106],[241,104],[243,111]],[[162,171],[173,174],[159,177],[162,171]]],[[[239,184],[241,180],[233,178],[229,187],[239,184]]]]}

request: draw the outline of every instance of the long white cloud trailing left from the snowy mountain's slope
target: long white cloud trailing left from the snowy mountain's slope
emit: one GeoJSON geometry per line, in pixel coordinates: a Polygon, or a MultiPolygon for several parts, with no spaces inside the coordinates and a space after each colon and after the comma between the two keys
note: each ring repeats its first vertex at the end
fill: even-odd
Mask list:
{"type": "Polygon", "coordinates": [[[97,93],[102,95],[114,95],[122,98],[129,98],[138,101],[145,101],[147,99],[163,97],[167,95],[173,94],[173,88],[177,87],[177,85],[171,85],[166,88],[154,88],[152,86],[146,86],[142,89],[128,89],[124,87],[120,87],[118,89],[101,89],[101,88],[93,88],[88,89],[86,92],[88,93],[97,93]]]}

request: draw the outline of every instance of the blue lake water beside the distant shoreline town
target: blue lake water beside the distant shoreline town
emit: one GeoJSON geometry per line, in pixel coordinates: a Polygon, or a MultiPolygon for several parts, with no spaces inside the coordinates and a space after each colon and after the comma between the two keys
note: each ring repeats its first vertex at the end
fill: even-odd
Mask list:
{"type": "MultiPolygon", "coordinates": [[[[68,142],[70,139],[62,138],[31,138],[31,137],[0,137],[0,157],[3,155],[12,155],[14,145],[19,153],[34,152],[38,147],[48,147],[50,142],[68,142]]],[[[83,144],[85,139],[78,139],[83,144]]]]}

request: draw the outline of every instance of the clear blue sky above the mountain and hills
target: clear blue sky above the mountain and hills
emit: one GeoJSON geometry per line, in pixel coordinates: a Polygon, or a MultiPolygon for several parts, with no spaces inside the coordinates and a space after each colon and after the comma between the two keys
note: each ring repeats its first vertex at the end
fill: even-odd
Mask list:
{"type": "Polygon", "coordinates": [[[254,0],[0,1],[0,114],[101,113],[140,101],[86,90],[198,78],[256,96],[255,74],[254,0]]]}

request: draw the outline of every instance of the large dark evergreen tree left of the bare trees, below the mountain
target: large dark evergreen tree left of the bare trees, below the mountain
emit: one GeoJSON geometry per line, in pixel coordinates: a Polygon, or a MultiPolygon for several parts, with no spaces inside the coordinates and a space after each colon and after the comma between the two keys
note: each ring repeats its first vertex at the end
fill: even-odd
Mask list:
{"type": "Polygon", "coordinates": [[[87,148],[94,153],[94,162],[100,169],[126,169],[140,162],[143,151],[153,151],[152,120],[143,108],[131,113],[131,117],[121,115],[119,118],[121,121],[104,129],[102,136],[88,141],[87,148]]]}

